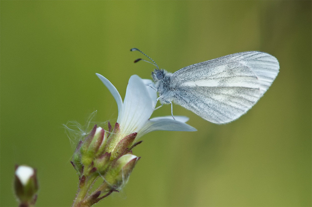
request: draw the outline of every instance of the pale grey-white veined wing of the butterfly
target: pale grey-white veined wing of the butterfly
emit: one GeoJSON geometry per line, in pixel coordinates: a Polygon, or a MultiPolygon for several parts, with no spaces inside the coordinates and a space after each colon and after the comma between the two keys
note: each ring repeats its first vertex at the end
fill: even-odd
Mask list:
{"type": "Polygon", "coordinates": [[[247,51],[187,66],[173,73],[174,102],[213,123],[228,123],[246,113],[271,86],[278,60],[247,51]]]}

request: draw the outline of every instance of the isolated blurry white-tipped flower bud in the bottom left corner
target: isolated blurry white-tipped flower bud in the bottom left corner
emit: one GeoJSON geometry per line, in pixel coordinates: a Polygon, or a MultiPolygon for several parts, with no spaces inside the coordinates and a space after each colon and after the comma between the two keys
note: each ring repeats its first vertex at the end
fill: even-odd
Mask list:
{"type": "Polygon", "coordinates": [[[16,167],[14,190],[20,206],[33,205],[36,202],[38,190],[36,171],[29,167],[20,165],[16,167]]]}

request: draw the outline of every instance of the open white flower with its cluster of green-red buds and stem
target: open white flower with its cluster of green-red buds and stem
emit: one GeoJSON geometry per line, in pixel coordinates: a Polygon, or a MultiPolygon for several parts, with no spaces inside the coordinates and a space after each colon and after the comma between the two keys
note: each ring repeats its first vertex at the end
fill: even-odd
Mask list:
{"type": "Polygon", "coordinates": [[[73,154],[71,163],[79,178],[79,190],[74,206],[90,206],[100,199],[118,191],[129,178],[131,171],[139,160],[132,154],[135,142],[144,134],[156,130],[196,131],[185,122],[187,117],[172,116],[151,118],[157,92],[147,84],[151,80],[132,75],[126,89],[124,102],[113,84],[100,74],[96,74],[109,89],[116,100],[118,118],[109,131],[94,126],[85,140],[81,140],[73,154]],[[104,182],[92,194],[87,196],[92,184],[98,177],[104,182]],[[102,193],[106,193],[101,196],[102,193]]]}

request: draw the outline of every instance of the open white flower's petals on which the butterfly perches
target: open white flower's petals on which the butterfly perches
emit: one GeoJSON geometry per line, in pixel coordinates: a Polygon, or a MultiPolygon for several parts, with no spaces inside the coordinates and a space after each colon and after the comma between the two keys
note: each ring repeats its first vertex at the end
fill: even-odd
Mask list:
{"type": "Polygon", "coordinates": [[[135,140],[142,137],[148,132],[157,130],[165,131],[197,131],[195,128],[186,124],[188,117],[172,116],[150,118],[153,113],[154,104],[157,99],[157,92],[147,84],[152,81],[141,79],[137,75],[132,75],[124,98],[124,103],[113,84],[104,76],[97,74],[105,86],[109,89],[117,102],[120,137],[127,136],[133,132],[137,132],[135,140]]]}

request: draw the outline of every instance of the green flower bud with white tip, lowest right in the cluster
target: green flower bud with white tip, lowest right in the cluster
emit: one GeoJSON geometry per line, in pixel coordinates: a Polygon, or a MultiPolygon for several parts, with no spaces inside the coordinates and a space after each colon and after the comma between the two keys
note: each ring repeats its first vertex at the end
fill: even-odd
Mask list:
{"type": "Polygon", "coordinates": [[[132,169],[139,159],[139,157],[132,154],[121,156],[106,173],[105,181],[115,188],[126,184],[132,169]]]}

